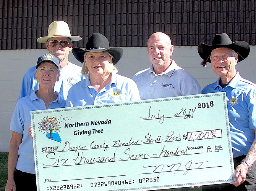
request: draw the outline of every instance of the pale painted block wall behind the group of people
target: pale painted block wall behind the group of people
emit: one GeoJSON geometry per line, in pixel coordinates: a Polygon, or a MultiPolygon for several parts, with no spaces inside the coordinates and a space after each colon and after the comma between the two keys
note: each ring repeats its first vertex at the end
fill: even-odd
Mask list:
{"type": "MultiPolygon", "coordinates": [[[[256,46],[250,46],[249,57],[238,63],[237,70],[243,78],[256,83],[256,46]]],[[[118,62],[119,74],[132,78],[133,75],[148,68],[150,61],[146,47],[123,48],[124,54],[118,62]]],[[[15,108],[21,81],[24,73],[34,66],[37,58],[47,53],[46,49],[0,50],[0,152],[8,152],[11,138],[10,120],[15,108]]],[[[202,59],[197,52],[197,46],[176,46],[172,59],[191,75],[193,75],[203,89],[217,79],[211,66],[204,68],[200,65],[202,59]]],[[[70,62],[80,65],[70,53],[70,62]]]]}

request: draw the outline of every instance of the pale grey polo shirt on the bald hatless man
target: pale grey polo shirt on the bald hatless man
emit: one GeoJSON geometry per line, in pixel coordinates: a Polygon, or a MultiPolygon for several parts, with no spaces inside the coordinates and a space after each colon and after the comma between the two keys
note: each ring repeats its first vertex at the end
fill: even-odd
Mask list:
{"type": "Polygon", "coordinates": [[[201,94],[201,87],[196,79],[174,60],[163,73],[156,74],[151,65],[150,68],[137,72],[132,79],[138,86],[141,100],[201,94]]]}

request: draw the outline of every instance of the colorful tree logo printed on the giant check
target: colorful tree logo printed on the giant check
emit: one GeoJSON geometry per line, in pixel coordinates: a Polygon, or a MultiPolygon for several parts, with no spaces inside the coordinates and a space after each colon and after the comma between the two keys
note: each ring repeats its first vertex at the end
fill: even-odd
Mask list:
{"type": "Polygon", "coordinates": [[[49,138],[52,138],[52,133],[60,132],[60,121],[54,116],[47,116],[41,119],[38,128],[40,132],[50,133],[49,138]]]}

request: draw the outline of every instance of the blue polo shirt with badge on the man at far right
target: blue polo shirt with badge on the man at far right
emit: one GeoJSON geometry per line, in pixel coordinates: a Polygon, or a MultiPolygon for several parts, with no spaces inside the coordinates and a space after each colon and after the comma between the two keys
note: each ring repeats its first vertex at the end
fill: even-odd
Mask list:
{"type": "Polygon", "coordinates": [[[243,79],[239,72],[222,88],[217,82],[206,86],[202,93],[226,92],[233,157],[247,155],[256,129],[256,84],[243,79]]]}

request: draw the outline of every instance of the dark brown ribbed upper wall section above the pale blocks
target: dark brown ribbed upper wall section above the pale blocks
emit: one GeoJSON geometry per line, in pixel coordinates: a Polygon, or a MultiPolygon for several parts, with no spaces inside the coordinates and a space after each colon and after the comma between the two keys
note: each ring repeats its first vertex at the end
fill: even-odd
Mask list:
{"type": "Polygon", "coordinates": [[[175,46],[211,43],[216,33],[256,45],[254,0],[1,0],[0,48],[40,49],[52,21],[66,21],[71,34],[102,33],[110,46],[146,46],[154,32],[175,46]]]}

